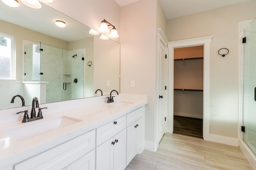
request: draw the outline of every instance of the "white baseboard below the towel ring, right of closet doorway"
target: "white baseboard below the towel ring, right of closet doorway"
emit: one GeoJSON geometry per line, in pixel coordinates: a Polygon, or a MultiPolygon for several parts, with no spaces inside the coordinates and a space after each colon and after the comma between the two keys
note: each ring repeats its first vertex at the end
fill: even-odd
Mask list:
{"type": "Polygon", "coordinates": [[[232,146],[238,147],[238,139],[237,138],[208,134],[207,136],[204,135],[204,140],[212,141],[212,142],[216,142],[216,143],[223,143],[226,145],[232,145],[232,146]]]}

